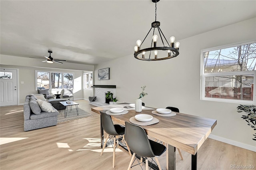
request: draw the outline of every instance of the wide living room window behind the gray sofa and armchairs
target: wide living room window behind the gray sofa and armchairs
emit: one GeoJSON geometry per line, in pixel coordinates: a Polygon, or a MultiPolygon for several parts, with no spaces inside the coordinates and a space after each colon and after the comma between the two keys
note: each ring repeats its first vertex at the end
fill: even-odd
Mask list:
{"type": "Polygon", "coordinates": [[[73,89],[73,73],[36,71],[37,89],[73,89]]]}

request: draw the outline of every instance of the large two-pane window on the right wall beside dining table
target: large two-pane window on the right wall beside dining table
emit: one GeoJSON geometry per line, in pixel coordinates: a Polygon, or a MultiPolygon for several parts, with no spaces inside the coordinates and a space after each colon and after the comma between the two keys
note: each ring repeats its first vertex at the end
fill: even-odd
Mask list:
{"type": "Polygon", "coordinates": [[[256,42],[202,50],[201,99],[255,104],[256,42]]]}

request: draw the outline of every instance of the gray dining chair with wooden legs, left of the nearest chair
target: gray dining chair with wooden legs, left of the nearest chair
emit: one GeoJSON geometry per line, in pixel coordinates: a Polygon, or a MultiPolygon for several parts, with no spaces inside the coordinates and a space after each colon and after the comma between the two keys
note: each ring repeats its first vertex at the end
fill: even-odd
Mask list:
{"type": "Polygon", "coordinates": [[[116,142],[117,142],[117,146],[120,142],[120,140],[116,140],[116,136],[121,136],[120,138],[126,144],[127,150],[129,152],[130,156],[132,156],[132,153],[131,153],[130,148],[127,145],[125,138],[124,138],[125,127],[121,126],[121,125],[114,125],[110,115],[108,115],[104,112],[100,112],[100,115],[101,115],[102,127],[103,127],[104,131],[108,134],[106,137],[106,140],[104,142],[100,156],[102,156],[102,154],[103,154],[103,151],[104,151],[104,148],[106,147],[107,141],[110,141],[113,146],[113,168],[114,168],[115,167],[116,142]],[[109,140],[108,140],[108,138],[109,138],[109,140]],[[112,140],[112,138],[114,138],[114,140],[112,140]]]}

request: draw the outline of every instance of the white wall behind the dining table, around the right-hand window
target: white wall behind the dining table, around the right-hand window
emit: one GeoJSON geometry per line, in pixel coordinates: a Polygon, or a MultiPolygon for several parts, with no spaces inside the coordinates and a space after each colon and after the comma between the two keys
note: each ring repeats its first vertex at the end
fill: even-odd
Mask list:
{"type": "MultiPolygon", "coordinates": [[[[188,28],[189,29],[189,28],[188,28]]],[[[131,55],[95,66],[110,67],[110,80],[98,80],[95,85],[116,85],[118,102],[134,103],[146,85],[148,95],[142,98],[146,106],[174,106],[181,113],[217,120],[212,137],[256,151],[255,133],[237,113],[239,103],[200,100],[200,52],[202,49],[256,40],[256,18],[179,40],[180,55],[163,61],[140,61],[131,55]]]]}

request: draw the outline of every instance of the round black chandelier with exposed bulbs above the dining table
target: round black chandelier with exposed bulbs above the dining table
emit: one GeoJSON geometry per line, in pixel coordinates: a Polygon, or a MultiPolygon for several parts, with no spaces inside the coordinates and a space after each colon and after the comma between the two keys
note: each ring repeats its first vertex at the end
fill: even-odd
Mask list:
{"type": "MultiPolygon", "coordinates": [[[[154,2],[155,4],[156,4],[156,2],[159,2],[159,1],[160,0],[152,0],[152,2],[154,2]]],[[[155,18],[156,18],[156,10],[155,10],[155,18]]],[[[177,57],[179,55],[180,43],[179,42],[174,43],[175,37],[172,36],[172,37],[170,37],[170,44],[169,44],[167,42],[164,34],[162,33],[162,30],[160,29],[160,22],[156,21],[156,19],[155,19],[154,22],[152,22],[151,28],[150,28],[148,34],[146,35],[146,37],[144,38],[144,40],[142,42],[140,40],[137,40],[137,42],[136,42],[137,45],[134,47],[134,57],[136,59],[145,60],[145,61],[158,61],[158,60],[170,59],[170,58],[173,58],[173,57],[177,57]],[[154,29],[153,29],[153,37],[152,37],[152,40],[151,40],[151,47],[141,49],[142,43],[145,41],[145,39],[147,38],[147,36],[150,33],[150,31],[152,30],[152,28],[154,28],[154,29]],[[158,39],[158,36],[155,34],[155,28],[157,28],[157,30],[158,30],[158,34],[160,35],[163,47],[156,46],[156,41],[158,39]],[[164,37],[164,40],[167,42],[168,46],[164,45],[163,37],[164,37]],[[153,47],[152,47],[152,45],[153,45],[153,47]],[[162,50],[162,51],[167,50],[166,57],[158,58],[158,55],[157,55],[158,50],[162,50]],[[145,58],[146,51],[150,51],[149,58],[145,58]],[[154,58],[150,58],[151,51],[154,51],[154,58]],[[138,55],[140,53],[142,53],[142,55],[138,55]]]]}

